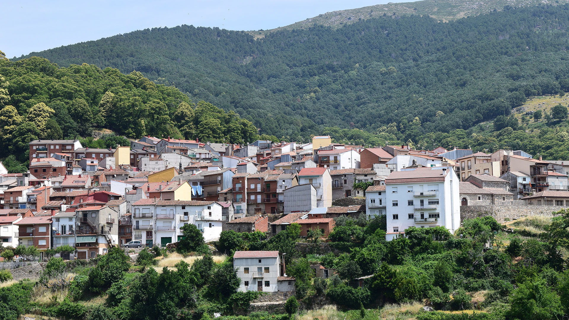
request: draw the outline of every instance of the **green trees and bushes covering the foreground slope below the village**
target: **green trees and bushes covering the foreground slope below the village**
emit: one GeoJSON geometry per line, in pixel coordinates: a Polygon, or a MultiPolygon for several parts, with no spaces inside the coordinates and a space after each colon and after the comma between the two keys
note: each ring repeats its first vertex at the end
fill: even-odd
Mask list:
{"type": "MultiPolygon", "coordinates": [[[[0,318],[31,313],[87,320],[209,320],[220,313],[221,320],[562,319],[569,315],[569,211],[555,214],[506,221],[506,226],[489,216],[466,219],[454,235],[444,227],[411,227],[389,242],[385,216],[340,216],[328,237],[320,229],[299,237],[299,224],[269,239],[259,231],[223,231],[212,243],[217,252],[189,224],[176,248],[144,249],[134,263],[119,248],[90,262],[63,261],[52,257],[54,251],[46,252],[50,261],[39,280],[18,282],[2,271],[0,318]],[[502,231],[506,227],[513,232],[502,231]],[[284,305],[288,314],[274,314],[275,305],[269,312],[234,315],[265,294],[236,292],[241,280],[232,256],[238,250],[286,253],[286,273],[296,278],[294,296],[284,305]],[[336,272],[318,278],[311,264],[336,272]],[[358,288],[352,280],[360,276],[372,277],[358,288]],[[328,306],[318,310],[321,301],[328,306]],[[300,303],[316,310],[300,311],[300,303]],[[425,305],[435,311],[424,311],[425,305]]],[[[38,254],[35,247],[23,246],[0,247],[0,252],[8,260],[38,254]]]]}

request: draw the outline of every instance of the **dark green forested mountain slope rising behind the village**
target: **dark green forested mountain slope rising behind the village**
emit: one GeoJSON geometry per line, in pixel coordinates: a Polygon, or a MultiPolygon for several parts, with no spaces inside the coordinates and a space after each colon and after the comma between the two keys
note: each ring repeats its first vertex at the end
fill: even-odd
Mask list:
{"type": "Polygon", "coordinates": [[[527,96],[569,89],[560,87],[568,23],[568,6],[542,5],[449,23],[376,18],[259,40],[180,26],[31,55],[137,70],[277,137],[304,137],[317,125],[375,130],[415,117],[419,133],[448,132],[507,115],[527,96]]]}

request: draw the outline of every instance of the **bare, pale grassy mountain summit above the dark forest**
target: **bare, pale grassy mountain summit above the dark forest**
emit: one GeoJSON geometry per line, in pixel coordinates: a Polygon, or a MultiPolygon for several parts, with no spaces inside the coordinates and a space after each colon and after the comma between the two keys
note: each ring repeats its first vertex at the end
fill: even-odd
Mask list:
{"type": "Polygon", "coordinates": [[[250,31],[251,34],[262,36],[266,32],[276,30],[292,30],[298,28],[307,28],[314,25],[321,24],[332,28],[339,28],[344,24],[350,24],[358,21],[359,19],[370,19],[382,17],[385,15],[403,16],[403,15],[429,15],[431,18],[438,19],[441,22],[448,22],[471,15],[479,15],[489,13],[494,10],[502,10],[504,6],[523,7],[533,6],[538,3],[551,3],[553,5],[569,3],[569,0],[542,0],[542,1],[527,1],[527,0],[423,0],[416,2],[401,2],[401,3],[387,3],[385,5],[375,5],[368,7],[361,7],[357,9],[348,9],[340,11],[332,11],[324,14],[319,14],[317,17],[308,18],[296,23],[289,24],[288,26],[278,27],[265,31],[250,31]],[[395,14],[394,14],[395,13],[395,14]]]}

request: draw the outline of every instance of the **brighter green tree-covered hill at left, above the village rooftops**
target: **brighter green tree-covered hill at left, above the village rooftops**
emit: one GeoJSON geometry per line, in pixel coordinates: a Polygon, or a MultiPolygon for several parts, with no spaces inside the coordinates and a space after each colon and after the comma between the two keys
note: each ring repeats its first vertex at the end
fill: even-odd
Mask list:
{"type": "Polygon", "coordinates": [[[37,138],[78,138],[93,129],[127,137],[200,138],[244,143],[257,138],[251,122],[140,72],[95,65],[59,68],[44,58],[9,61],[0,51],[0,157],[24,160],[37,138]]]}

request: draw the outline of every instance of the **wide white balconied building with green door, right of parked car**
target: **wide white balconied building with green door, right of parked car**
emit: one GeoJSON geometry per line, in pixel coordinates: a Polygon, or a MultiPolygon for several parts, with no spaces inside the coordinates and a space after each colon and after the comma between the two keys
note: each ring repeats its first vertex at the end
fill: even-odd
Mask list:
{"type": "Polygon", "coordinates": [[[203,232],[205,242],[219,238],[222,207],[213,201],[141,199],[133,203],[133,239],[148,247],[179,241],[185,224],[203,232]]]}

